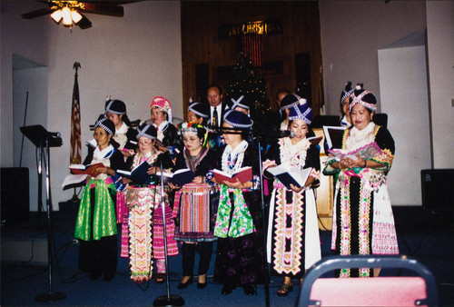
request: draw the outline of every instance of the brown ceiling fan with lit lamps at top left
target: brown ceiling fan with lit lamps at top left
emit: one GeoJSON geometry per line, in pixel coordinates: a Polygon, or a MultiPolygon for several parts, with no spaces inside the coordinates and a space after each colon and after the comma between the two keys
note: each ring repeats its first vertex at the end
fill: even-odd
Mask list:
{"type": "Polygon", "coordinates": [[[22,18],[33,19],[43,15],[51,15],[55,23],[60,24],[63,20],[65,26],[78,25],[81,29],[92,27],[92,22],[84,16],[87,14],[109,15],[123,17],[123,4],[136,1],[39,1],[47,7],[25,13],[22,18]]]}

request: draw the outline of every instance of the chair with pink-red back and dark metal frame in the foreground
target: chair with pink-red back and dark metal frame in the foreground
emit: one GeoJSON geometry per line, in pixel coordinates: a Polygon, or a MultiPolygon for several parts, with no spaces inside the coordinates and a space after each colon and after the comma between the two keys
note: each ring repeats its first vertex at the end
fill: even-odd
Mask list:
{"type": "Polygon", "coordinates": [[[439,295],[429,270],[406,256],[330,256],[314,264],[301,284],[297,306],[437,306],[439,295]],[[396,268],[419,276],[321,278],[341,268],[396,268]]]}

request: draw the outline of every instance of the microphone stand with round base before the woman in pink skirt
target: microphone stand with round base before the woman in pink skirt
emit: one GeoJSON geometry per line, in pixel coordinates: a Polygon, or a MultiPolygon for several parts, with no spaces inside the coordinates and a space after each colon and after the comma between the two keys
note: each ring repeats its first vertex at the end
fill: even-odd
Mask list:
{"type": "Polygon", "coordinates": [[[164,184],[163,184],[163,160],[161,160],[161,209],[163,210],[163,236],[164,236],[164,257],[165,257],[165,284],[167,289],[166,295],[157,297],[153,306],[183,306],[183,297],[170,293],[169,281],[169,257],[167,255],[167,229],[165,224],[165,199],[164,199],[164,184]]]}

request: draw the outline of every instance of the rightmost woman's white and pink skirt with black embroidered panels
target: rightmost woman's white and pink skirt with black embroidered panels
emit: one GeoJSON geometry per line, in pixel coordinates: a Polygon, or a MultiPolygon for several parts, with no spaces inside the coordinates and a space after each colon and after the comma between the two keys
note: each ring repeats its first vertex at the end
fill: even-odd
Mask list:
{"type": "MultiPolygon", "coordinates": [[[[386,184],[370,188],[360,177],[340,179],[332,216],[331,249],[341,255],[399,254],[386,184]]],[[[369,277],[369,268],[342,269],[341,277],[369,277]]]]}

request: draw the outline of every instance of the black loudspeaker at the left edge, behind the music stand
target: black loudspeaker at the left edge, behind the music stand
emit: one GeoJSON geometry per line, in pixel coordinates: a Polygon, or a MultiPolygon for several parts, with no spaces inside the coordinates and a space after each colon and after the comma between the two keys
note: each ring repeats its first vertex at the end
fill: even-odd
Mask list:
{"type": "Polygon", "coordinates": [[[2,220],[24,222],[30,213],[27,167],[2,167],[2,220]]]}

